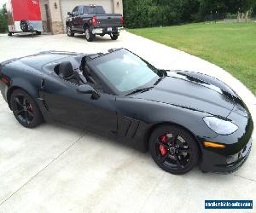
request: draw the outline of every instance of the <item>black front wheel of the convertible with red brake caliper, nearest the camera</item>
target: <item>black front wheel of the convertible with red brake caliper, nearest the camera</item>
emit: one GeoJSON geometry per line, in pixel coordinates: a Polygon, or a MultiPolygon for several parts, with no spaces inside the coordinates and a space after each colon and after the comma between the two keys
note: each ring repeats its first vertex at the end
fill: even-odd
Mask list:
{"type": "Polygon", "coordinates": [[[176,125],[161,125],[149,139],[154,162],[173,175],[183,175],[198,163],[199,148],[193,135],[176,125]]]}

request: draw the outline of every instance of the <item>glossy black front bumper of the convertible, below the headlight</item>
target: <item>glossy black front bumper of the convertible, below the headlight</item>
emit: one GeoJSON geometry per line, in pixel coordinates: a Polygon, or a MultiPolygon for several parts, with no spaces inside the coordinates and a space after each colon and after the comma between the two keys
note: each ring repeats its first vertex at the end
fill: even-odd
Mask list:
{"type": "Polygon", "coordinates": [[[253,119],[248,111],[239,112],[236,107],[228,118],[238,126],[238,130],[230,135],[218,135],[210,139],[224,144],[224,148],[204,147],[203,141],[207,139],[201,141],[202,171],[229,173],[238,170],[247,160],[253,143],[253,119]]]}

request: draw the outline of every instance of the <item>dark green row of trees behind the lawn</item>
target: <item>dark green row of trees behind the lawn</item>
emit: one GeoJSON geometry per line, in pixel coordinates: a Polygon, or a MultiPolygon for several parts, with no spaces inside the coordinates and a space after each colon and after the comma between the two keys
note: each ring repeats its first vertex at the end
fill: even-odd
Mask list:
{"type": "Polygon", "coordinates": [[[171,26],[201,20],[236,18],[238,10],[245,13],[256,0],[123,0],[125,27],[171,26]],[[212,15],[210,15],[212,12],[212,15]],[[211,18],[210,18],[211,17],[211,18]]]}

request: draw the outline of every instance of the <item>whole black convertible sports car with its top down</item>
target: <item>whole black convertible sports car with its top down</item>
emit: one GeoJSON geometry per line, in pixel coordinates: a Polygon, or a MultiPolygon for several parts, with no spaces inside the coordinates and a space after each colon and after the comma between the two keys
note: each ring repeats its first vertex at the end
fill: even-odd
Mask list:
{"type": "Polygon", "coordinates": [[[0,89],[27,128],[61,121],[117,135],[172,174],[230,172],[247,159],[253,120],[216,78],[155,68],[127,49],[42,52],[0,66],[0,89]]]}

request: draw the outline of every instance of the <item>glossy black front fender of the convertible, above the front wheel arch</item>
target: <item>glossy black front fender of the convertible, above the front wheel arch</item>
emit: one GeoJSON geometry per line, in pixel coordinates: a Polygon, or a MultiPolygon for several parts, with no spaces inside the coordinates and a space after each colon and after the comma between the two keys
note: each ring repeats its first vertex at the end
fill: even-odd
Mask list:
{"type": "Polygon", "coordinates": [[[117,99],[117,111],[120,116],[142,121],[148,126],[163,123],[178,124],[197,138],[211,139],[218,135],[210,130],[202,119],[209,115],[207,112],[186,107],[142,99],[120,98],[117,99]]]}

